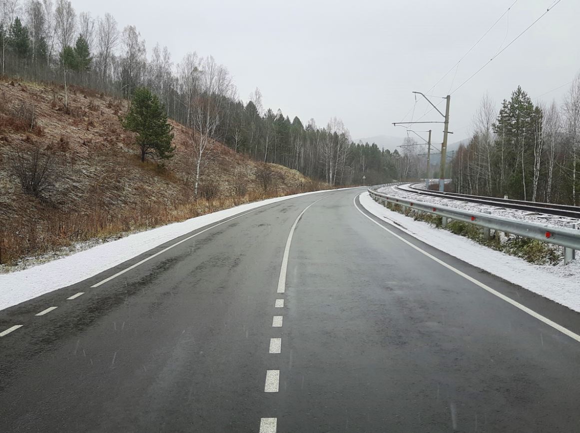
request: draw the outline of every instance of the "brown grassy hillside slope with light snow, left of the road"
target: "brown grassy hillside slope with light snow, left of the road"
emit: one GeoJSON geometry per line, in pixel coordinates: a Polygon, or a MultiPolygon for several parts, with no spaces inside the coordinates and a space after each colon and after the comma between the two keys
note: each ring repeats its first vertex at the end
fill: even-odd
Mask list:
{"type": "Polygon", "coordinates": [[[204,167],[196,200],[193,152],[183,125],[172,122],[176,155],[160,167],[140,162],[132,134],[121,127],[118,116],[126,111],[126,101],[69,87],[68,107],[66,112],[63,86],[0,81],[3,271],[26,265],[27,257],[66,254],[75,242],[327,186],[213,143],[219,156],[204,167]],[[35,155],[49,178],[38,197],[21,186],[35,155]]]}

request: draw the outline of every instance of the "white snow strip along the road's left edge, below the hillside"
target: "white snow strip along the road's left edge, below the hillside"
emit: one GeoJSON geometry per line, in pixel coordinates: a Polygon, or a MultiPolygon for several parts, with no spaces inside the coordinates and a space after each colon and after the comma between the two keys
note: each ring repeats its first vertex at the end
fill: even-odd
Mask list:
{"type": "Polygon", "coordinates": [[[138,232],[26,270],[0,274],[0,310],[83,281],[90,276],[106,271],[132,257],[205,225],[216,223],[263,205],[318,192],[333,191],[337,190],[303,192],[301,194],[246,203],[235,206],[235,208],[191,218],[181,223],[168,224],[138,232]]]}

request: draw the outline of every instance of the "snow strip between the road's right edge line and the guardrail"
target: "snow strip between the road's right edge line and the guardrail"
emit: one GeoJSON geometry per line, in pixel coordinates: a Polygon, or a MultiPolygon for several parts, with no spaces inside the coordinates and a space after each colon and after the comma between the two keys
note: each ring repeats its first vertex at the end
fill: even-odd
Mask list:
{"type": "Polygon", "coordinates": [[[580,260],[568,265],[534,265],[519,257],[492,250],[471,239],[415,221],[375,202],[368,192],[361,205],[381,220],[435,248],[580,312],[580,260]]]}

